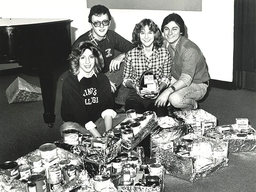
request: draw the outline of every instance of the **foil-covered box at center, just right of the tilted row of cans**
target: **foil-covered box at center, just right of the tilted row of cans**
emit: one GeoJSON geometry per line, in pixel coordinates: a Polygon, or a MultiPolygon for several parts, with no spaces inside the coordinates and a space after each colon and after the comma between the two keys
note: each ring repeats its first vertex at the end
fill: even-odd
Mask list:
{"type": "Polygon", "coordinates": [[[156,148],[161,144],[188,134],[187,124],[169,116],[158,118],[158,125],[158,128],[152,131],[150,136],[151,158],[155,157],[156,148]]]}

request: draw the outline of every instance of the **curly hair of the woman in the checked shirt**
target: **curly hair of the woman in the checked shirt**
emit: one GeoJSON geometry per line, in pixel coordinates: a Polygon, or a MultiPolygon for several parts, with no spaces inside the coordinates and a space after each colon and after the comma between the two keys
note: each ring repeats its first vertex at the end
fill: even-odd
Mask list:
{"type": "Polygon", "coordinates": [[[140,23],[137,23],[134,27],[132,32],[132,40],[131,42],[134,44],[135,47],[143,49],[142,43],[140,41],[140,32],[145,29],[145,26],[148,26],[148,29],[154,33],[154,47],[160,48],[163,45],[163,36],[162,32],[160,31],[159,27],[157,26],[154,21],[151,19],[143,19],[140,23]]]}

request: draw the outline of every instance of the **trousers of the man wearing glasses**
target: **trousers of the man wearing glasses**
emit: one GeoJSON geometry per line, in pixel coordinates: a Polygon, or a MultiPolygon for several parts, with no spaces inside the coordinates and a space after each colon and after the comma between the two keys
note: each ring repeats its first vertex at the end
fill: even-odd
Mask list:
{"type": "Polygon", "coordinates": [[[118,94],[115,98],[115,103],[120,104],[120,105],[125,105],[125,101],[126,101],[126,98],[128,96],[128,89],[127,89],[127,87],[125,87],[122,84],[122,82],[123,82],[123,79],[122,79],[123,73],[124,73],[124,64],[123,63],[120,64],[120,69],[118,71],[115,71],[115,72],[109,72],[108,71],[108,72],[105,73],[105,75],[108,77],[108,79],[116,84],[116,87],[121,85],[119,90],[117,90],[118,94]]]}

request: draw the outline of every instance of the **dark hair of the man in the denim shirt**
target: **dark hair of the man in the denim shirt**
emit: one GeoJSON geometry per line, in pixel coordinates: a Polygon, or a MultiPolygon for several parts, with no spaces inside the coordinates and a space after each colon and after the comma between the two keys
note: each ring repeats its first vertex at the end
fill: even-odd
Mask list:
{"type": "Polygon", "coordinates": [[[183,19],[177,13],[169,14],[168,16],[166,16],[163,19],[163,24],[162,24],[162,27],[161,27],[161,31],[163,32],[164,26],[166,26],[171,21],[174,21],[177,24],[177,26],[180,27],[180,33],[181,33],[180,35],[184,36],[185,35],[185,24],[184,24],[183,19]]]}

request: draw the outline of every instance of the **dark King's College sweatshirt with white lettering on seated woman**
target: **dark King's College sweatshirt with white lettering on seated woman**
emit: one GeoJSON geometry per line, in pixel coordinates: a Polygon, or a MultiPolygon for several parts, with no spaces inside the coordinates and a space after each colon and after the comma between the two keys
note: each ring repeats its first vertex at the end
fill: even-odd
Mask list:
{"type": "Polygon", "coordinates": [[[85,125],[95,122],[106,109],[114,110],[111,85],[104,73],[98,73],[79,82],[69,74],[62,86],[61,118],[63,121],[85,125]]]}

